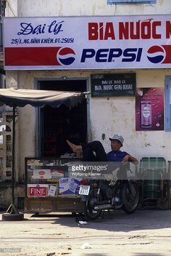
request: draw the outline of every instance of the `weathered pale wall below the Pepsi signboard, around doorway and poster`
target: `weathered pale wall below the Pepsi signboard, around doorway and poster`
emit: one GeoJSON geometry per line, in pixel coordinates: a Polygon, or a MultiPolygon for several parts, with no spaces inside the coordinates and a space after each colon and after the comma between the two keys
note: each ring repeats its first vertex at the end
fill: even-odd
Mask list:
{"type": "MultiPolygon", "coordinates": [[[[7,77],[14,71],[7,71],[7,77]]],[[[118,71],[115,71],[118,73],[118,71]]],[[[125,71],[120,71],[125,72],[125,71]]],[[[128,71],[129,72],[129,71],[128,71]]],[[[164,87],[164,76],[170,70],[137,70],[137,87],[164,87]],[[146,79],[144,79],[146,78],[146,79]]],[[[33,89],[35,79],[90,78],[93,71],[18,71],[18,87],[33,89]]],[[[96,71],[101,73],[101,71],[96,71]]],[[[114,71],[103,71],[114,73],[114,71]]],[[[13,77],[14,79],[14,77],[13,77]]],[[[13,82],[12,79],[12,82],[13,82]]],[[[10,79],[8,79],[10,86],[10,79]]],[[[90,85],[90,84],[89,84],[90,85]]],[[[35,108],[20,108],[17,123],[17,138],[20,174],[24,172],[25,156],[35,155],[35,108]]],[[[170,159],[171,133],[165,131],[135,131],[135,97],[95,97],[90,100],[91,140],[101,140],[106,151],[110,150],[109,137],[120,133],[124,138],[122,150],[128,151],[138,159],[143,156],[163,156],[170,159]],[[101,113],[101,115],[99,115],[101,113]],[[102,135],[105,135],[102,140],[102,135]]]]}

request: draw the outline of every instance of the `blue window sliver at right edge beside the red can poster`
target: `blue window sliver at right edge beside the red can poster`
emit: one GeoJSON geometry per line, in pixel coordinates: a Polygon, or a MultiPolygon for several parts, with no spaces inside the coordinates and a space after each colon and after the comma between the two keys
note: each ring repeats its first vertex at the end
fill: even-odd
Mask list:
{"type": "Polygon", "coordinates": [[[171,132],[171,76],[165,77],[165,130],[171,132]]]}

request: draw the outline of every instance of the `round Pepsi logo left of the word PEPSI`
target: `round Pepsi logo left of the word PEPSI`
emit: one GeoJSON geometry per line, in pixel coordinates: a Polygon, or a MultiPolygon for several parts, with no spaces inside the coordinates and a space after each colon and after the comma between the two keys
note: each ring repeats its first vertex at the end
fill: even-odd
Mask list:
{"type": "Polygon", "coordinates": [[[64,47],[57,52],[57,61],[61,65],[70,65],[75,61],[75,52],[73,49],[64,47]]]}

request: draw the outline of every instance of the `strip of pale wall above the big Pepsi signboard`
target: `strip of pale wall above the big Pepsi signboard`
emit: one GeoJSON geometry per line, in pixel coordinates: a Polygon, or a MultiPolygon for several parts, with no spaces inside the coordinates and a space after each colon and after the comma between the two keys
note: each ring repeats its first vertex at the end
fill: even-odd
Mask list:
{"type": "MultiPolygon", "coordinates": [[[[13,0],[14,1],[14,0],[13,0]]],[[[170,13],[170,0],[157,4],[107,4],[107,0],[18,0],[17,14],[23,16],[142,15],[170,13]]]]}

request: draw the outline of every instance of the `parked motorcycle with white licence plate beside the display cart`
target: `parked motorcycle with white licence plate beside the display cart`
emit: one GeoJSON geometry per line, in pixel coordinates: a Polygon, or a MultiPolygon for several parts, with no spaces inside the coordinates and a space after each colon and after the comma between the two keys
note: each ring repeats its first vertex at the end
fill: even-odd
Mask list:
{"type": "MultiPolygon", "coordinates": [[[[96,220],[104,210],[122,209],[127,214],[135,212],[139,202],[138,185],[128,179],[128,167],[120,167],[113,180],[82,180],[79,194],[82,196],[83,214],[87,220],[96,220]],[[125,173],[124,179],[120,173],[125,173]],[[107,192],[112,192],[108,199],[107,192]]],[[[109,193],[108,193],[109,194],[109,193]]]]}

